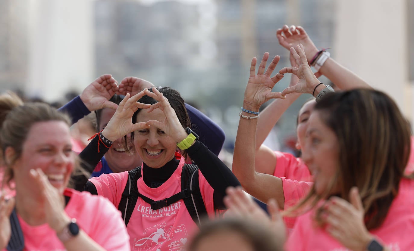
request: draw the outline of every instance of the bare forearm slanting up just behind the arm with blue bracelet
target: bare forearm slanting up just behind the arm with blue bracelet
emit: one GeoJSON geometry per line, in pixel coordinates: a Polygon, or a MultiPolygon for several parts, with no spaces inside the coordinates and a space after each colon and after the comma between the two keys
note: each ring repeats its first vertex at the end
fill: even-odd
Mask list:
{"type": "Polygon", "coordinates": [[[274,125],[277,121],[279,121],[280,117],[282,117],[283,113],[286,112],[289,106],[294,103],[299,96],[301,96],[301,93],[290,93],[286,95],[285,99],[275,99],[262,112],[260,112],[256,129],[256,150],[258,150],[265,141],[267,135],[269,135],[274,125]]]}

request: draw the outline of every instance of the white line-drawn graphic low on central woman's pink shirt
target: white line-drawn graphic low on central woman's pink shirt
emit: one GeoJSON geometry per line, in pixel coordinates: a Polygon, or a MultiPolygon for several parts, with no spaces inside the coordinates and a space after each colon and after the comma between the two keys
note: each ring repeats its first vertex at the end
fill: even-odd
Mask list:
{"type": "Polygon", "coordinates": [[[139,240],[134,238],[133,249],[138,251],[161,251],[161,246],[168,241],[169,251],[184,251],[181,247],[188,240],[187,229],[181,224],[177,227],[166,227],[166,222],[161,222],[154,227],[149,227],[144,231],[144,238],[139,240]]]}

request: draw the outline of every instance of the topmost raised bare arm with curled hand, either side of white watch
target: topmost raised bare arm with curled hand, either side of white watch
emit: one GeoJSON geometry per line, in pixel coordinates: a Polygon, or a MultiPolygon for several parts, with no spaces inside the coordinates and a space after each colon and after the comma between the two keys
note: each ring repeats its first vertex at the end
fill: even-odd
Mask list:
{"type": "MultiPolygon", "coordinates": [[[[284,25],[282,29],[277,30],[276,34],[279,44],[287,50],[290,50],[291,47],[296,47],[296,45],[300,43],[303,44],[306,57],[308,58],[308,63],[310,63],[309,60],[312,60],[312,58],[319,51],[312,40],[310,40],[305,29],[301,26],[289,27],[284,25]]],[[[363,79],[351,72],[349,69],[340,65],[331,57],[325,61],[322,67],[320,67],[319,72],[326,76],[341,90],[372,88],[363,79]]]]}

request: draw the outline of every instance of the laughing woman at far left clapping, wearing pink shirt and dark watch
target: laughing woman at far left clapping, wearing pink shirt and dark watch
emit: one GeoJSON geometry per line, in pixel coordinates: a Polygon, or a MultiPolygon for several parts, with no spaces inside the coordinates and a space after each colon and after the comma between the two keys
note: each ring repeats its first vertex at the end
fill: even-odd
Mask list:
{"type": "Polygon", "coordinates": [[[16,191],[8,201],[0,197],[0,250],[130,250],[107,199],[66,188],[77,163],[69,117],[42,103],[2,103],[0,111],[7,113],[0,123],[3,182],[13,180],[16,191]]]}

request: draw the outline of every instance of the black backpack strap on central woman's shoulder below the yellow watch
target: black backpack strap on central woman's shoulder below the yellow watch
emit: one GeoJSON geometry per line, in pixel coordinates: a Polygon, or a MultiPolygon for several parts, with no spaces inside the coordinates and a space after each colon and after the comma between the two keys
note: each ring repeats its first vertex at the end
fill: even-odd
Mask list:
{"type": "Polygon", "coordinates": [[[185,164],[181,173],[181,190],[190,191],[190,196],[184,198],[188,213],[197,225],[201,225],[201,219],[207,215],[207,210],[201,196],[198,184],[198,167],[193,164],[185,164]]]}

